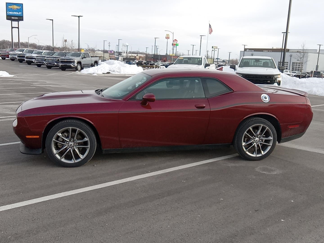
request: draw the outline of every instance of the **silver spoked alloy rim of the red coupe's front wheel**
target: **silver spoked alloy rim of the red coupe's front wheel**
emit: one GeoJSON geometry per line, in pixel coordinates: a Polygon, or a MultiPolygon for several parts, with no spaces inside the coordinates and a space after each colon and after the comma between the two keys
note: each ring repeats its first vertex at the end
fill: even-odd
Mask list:
{"type": "Polygon", "coordinates": [[[79,162],[87,156],[89,150],[89,137],[79,128],[63,128],[52,139],[53,154],[65,163],[79,162]]]}

